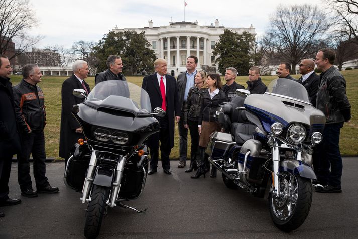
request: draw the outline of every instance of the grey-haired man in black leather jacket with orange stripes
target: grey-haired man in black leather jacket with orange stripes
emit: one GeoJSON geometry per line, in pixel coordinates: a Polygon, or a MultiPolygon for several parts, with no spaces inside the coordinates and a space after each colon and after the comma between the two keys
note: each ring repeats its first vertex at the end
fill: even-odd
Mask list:
{"type": "Polygon", "coordinates": [[[51,187],[45,176],[45,97],[41,88],[36,85],[41,82],[42,74],[39,67],[33,64],[25,65],[22,73],[23,80],[13,88],[16,120],[22,136],[22,152],[17,155],[21,195],[36,197],[37,193],[57,193],[58,188],[51,187]],[[32,188],[30,154],[34,160],[37,191],[32,188]]]}

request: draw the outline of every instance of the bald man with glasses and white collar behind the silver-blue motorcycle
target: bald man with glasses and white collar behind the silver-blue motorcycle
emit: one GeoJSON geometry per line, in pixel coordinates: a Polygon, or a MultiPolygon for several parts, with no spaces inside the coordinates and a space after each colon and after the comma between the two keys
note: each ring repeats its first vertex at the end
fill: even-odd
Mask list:
{"type": "Polygon", "coordinates": [[[319,86],[319,75],[314,72],[314,61],[311,59],[303,59],[298,65],[300,74],[302,75],[298,82],[307,90],[311,103],[316,107],[317,90],[319,86]]]}

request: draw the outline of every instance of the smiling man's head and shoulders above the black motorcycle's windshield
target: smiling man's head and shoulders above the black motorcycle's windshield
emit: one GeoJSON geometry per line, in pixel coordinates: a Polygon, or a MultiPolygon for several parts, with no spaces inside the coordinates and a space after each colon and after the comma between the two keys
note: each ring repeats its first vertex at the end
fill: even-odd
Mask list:
{"type": "Polygon", "coordinates": [[[99,82],[106,80],[125,80],[126,77],[122,75],[123,63],[120,56],[110,55],[107,58],[107,67],[106,71],[96,74],[94,78],[95,85],[99,82]]]}

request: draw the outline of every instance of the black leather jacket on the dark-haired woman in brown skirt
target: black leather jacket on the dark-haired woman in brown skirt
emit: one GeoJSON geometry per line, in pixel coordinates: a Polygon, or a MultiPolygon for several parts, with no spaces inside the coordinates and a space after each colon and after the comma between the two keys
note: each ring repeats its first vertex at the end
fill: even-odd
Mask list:
{"type": "Polygon", "coordinates": [[[206,90],[203,98],[203,103],[200,107],[198,125],[201,125],[203,121],[217,121],[217,118],[214,116],[214,114],[217,110],[217,107],[223,102],[227,102],[227,97],[224,91],[220,90],[219,93],[211,99],[209,90],[206,90]]]}

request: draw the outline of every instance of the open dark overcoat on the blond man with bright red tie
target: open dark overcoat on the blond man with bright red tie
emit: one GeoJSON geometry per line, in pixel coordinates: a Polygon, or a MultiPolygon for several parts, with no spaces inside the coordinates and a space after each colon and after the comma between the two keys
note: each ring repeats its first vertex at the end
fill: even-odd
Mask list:
{"type": "MultiPolygon", "coordinates": [[[[165,75],[166,78],[166,100],[167,114],[169,120],[169,137],[171,148],[174,147],[174,117],[181,116],[181,108],[179,104],[179,92],[177,82],[174,77],[165,75]]],[[[156,107],[162,107],[162,94],[158,83],[157,73],[143,78],[142,88],[147,91],[152,110],[156,107]]]]}

